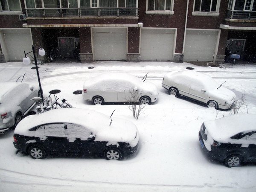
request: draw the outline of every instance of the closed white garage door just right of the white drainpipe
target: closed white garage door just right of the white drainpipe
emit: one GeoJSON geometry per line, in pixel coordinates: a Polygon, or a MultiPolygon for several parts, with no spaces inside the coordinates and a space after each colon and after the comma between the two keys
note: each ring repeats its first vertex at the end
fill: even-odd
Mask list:
{"type": "Polygon", "coordinates": [[[184,61],[213,61],[218,31],[187,30],[184,61]]]}

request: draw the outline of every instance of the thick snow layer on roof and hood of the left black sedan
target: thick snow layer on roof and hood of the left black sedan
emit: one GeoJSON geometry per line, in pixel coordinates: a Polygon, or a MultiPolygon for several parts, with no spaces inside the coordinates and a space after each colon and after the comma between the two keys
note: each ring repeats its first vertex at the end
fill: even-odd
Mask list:
{"type": "MultiPolygon", "coordinates": [[[[31,115],[24,118],[15,128],[14,133],[34,137],[35,131],[29,131],[38,125],[43,125],[51,122],[56,123],[73,123],[88,128],[93,135],[95,141],[108,141],[110,143],[117,142],[132,142],[136,137],[139,140],[139,135],[134,123],[115,117],[106,116],[96,111],[78,108],[62,108],[47,111],[40,115],[31,115]],[[110,124],[113,119],[112,124],[110,124]]],[[[137,143],[134,143],[134,146],[137,143]]],[[[134,147],[132,146],[132,147],[134,147]]]]}

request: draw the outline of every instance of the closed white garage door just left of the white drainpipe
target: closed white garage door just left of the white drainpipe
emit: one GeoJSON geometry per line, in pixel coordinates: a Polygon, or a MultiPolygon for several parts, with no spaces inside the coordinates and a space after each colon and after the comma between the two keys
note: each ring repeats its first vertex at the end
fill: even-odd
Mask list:
{"type": "Polygon", "coordinates": [[[141,61],[172,61],[175,29],[141,29],[141,61]]]}

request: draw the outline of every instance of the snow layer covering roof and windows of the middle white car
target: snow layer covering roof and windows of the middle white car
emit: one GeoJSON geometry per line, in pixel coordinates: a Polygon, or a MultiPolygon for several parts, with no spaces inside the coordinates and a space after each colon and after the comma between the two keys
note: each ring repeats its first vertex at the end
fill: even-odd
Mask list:
{"type": "Polygon", "coordinates": [[[142,79],[129,73],[103,73],[84,81],[84,89],[100,90],[102,92],[123,92],[124,90],[134,89],[135,87],[154,95],[158,93],[157,87],[153,83],[148,81],[143,82],[142,79]],[[134,87],[131,87],[131,84],[134,87]]]}

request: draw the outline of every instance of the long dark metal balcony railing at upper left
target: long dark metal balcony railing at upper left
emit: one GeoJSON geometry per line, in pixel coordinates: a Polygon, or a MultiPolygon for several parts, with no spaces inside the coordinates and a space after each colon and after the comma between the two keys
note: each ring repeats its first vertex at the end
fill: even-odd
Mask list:
{"type": "Polygon", "coordinates": [[[27,17],[138,17],[138,8],[26,9],[27,17]]]}

